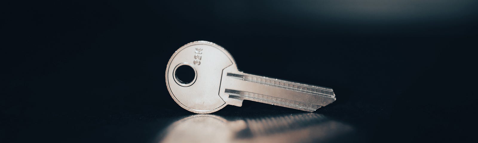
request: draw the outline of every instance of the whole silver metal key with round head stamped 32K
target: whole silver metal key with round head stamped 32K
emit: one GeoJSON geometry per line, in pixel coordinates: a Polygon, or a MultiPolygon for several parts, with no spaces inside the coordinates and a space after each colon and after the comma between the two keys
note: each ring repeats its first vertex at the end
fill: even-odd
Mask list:
{"type": "Polygon", "coordinates": [[[228,51],[208,41],[194,41],[175,51],[165,79],[174,101],[195,113],[240,107],[243,100],[314,112],[336,100],[331,88],[241,72],[228,51]]]}

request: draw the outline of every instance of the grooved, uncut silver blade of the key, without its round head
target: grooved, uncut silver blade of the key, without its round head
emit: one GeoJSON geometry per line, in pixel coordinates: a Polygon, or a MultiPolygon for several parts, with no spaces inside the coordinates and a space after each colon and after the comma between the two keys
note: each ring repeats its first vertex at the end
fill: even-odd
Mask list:
{"type": "Polygon", "coordinates": [[[221,79],[221,92],[228,95],[225,101],[231,105],[241,106],[242,100],[250,100],[314,112],[336,100],[331,88],[243,73],[234,68],[225,69],[221,79]]]}

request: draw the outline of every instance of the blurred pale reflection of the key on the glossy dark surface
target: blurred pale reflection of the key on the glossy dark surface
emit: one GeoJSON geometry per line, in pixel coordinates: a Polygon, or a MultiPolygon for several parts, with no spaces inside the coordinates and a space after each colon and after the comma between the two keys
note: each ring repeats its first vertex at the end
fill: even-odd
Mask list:
{"type": "Polygon", "coordinates": [[[353,128],[318,113],[258,118],[196,114],[179,118],[159,135],[159,143],[316,143],[331,141],[353,128]]]}

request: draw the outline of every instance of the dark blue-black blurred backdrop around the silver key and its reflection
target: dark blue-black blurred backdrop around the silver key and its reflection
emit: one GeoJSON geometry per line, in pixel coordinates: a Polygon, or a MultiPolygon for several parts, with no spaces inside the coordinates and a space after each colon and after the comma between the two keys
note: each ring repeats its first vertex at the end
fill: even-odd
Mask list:
{"type": "MultiPolygon", "coordinates": [[[[331,87],[346,142],[476,140],[474,0],[78,0],[2,4],[2,143],[149,143],[178,116],[164,80],[212,41],[245,72],[331,87]]],[[[297,113],[256,102],[214,114],[297,113]]]]}

